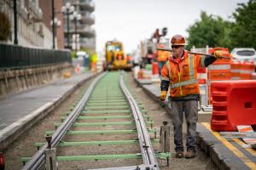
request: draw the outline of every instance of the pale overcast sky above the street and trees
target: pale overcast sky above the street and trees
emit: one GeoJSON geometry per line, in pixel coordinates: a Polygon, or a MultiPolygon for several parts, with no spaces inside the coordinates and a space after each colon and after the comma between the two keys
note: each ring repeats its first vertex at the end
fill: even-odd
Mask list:
{"type": "Polygon", "coordinates": [[[125,52],[137,49],[140,41],[152,36],[156,28],[168,28],[166,37],[181,34],[196,20],[201,11],[232,20],[237,3],[248,0],[94,0],[96,50],[113,39],[124,43],[125,52]]]}

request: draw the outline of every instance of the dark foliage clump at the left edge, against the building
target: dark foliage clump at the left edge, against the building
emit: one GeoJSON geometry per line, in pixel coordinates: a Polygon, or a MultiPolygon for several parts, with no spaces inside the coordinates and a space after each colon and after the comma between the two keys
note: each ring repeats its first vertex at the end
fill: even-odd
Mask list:
{"type": "Polygon", "coordinates": [[[0,13],[0,40],[7,41],[11,36],[11,24],[6,14],[0,13]]]}

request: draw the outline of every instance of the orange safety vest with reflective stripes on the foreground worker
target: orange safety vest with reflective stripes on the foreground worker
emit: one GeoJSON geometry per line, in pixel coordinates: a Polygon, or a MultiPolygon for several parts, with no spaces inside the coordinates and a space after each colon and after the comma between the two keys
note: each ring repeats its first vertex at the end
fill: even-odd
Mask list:
{"type": "Polygon", "coordinates": [[[161,71],[161,80],[170,81],[172,98],[200,94],[197,68],[205,68],[205,56],[189,54],[185,51],[179,61],[169,59],[161,71]]]}

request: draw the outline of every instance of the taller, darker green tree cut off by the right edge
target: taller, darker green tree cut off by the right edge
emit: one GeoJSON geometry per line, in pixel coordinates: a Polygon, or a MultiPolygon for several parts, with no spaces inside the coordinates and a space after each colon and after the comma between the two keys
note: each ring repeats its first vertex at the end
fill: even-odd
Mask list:
{"type": "Polygon", "coordinates": [[[230,31],[232,46],[239,48],[256,48],[256,0],[239,3],[233,13],[236,20],[230,31]]]}

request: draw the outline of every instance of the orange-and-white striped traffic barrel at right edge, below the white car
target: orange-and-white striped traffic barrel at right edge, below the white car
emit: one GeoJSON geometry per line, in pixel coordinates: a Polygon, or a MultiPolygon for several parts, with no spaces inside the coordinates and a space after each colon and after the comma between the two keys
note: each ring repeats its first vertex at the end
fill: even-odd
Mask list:
{"type": "Polygon", "coordinates": [[[241,80],[252,80],[255,65],[253,62],[245,61],[241,64],[240,78],[241,80]]]}

